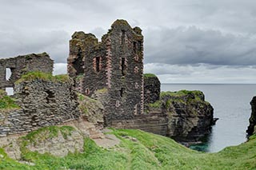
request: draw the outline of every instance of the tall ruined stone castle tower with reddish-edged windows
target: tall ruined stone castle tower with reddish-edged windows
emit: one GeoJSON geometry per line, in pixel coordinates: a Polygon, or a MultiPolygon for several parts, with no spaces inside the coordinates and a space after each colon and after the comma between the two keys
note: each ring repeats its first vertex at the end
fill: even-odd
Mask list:
{"type": "Polygon", "coordinates": [[[143,113],[143,36],[125,20],[115,21],[102,42],[75,32],[70,40],[68,73],[86,96],[106,91],[106,124],[143,113]]]}

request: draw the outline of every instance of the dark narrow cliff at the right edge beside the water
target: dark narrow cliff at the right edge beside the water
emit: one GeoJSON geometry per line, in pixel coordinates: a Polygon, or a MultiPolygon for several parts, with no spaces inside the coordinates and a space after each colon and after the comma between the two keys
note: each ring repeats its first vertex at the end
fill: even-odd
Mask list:
{"type": "Polygon", "coordinates": [[[250,125],[247,128],[248,135],[256,134],[256,97],[250,101],[251,105],[251,115],[250,115],[250,125]]]}

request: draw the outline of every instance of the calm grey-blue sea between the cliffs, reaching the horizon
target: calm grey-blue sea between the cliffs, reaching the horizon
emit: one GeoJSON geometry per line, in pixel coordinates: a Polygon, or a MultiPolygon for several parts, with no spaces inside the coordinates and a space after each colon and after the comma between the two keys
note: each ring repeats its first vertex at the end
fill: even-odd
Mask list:
{"type": "Polygon", "coordinates": [[[191,146],[203,152],[218,152],[227,146],[246,141],[249,125],[250,101],[256,96],[256,85],[234,84],[162,84],[161,91],[181,89],[200,90],[206,101],[214,107],[214,117],[219,118],[210,136],[203,144],[191,146]]]}

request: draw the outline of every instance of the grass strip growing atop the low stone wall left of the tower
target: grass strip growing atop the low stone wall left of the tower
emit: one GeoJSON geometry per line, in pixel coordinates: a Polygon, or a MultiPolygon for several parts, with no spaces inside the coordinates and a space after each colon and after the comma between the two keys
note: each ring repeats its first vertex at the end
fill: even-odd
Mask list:
{"type": "Polygon", "coordinates": [[[50,73],[30,72],[22,75],[22,77],[18,79],[18,81],[16,81],[15,84],[19,84],[23,81],[34,81],[34,80],[66,82],[66,81],[69,81],[70,78],[67,74],[53,76],[50,73]]]}

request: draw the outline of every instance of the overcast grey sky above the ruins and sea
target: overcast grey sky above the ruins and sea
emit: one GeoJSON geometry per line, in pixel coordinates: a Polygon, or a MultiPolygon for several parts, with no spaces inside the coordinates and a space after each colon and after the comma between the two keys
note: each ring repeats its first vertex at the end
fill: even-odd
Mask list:
{"type": "Polygon", "coordinates": [[[46,51],[66,73],[76,30],[98,38],[118,18],[144,35],[162,83],[256,83],[255,0],[0,0],[0,57],[46,51]]]}

